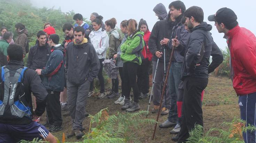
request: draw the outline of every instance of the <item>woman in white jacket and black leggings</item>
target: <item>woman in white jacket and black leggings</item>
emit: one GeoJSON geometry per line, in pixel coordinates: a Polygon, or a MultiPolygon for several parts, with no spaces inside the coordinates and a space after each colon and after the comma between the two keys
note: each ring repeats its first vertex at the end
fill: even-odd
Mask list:
{"type": "MultiPolygon", "coordinates": [[[[92,21],[94,30],[89,35],[89,38],[91,39],[91,42],[100,60],[100,71],[98,73],[98,79],[100,82],[100,95],[98,96],[98,99],[101,99],[106,96],[105,85],[104,85],[105,83],[102,75],[102,69],[103,69],[102,62],[106,59],[106,52],[109,47],[108,34],[106,33],[106,30],[103,30],[101,28],[102,19],[103,19],[102,16],[98,16],[92,21]]],[[[93,93],[94,92],[93,92],[93,81],[92,81],[88,97],[90,97],[93,93]]]]}

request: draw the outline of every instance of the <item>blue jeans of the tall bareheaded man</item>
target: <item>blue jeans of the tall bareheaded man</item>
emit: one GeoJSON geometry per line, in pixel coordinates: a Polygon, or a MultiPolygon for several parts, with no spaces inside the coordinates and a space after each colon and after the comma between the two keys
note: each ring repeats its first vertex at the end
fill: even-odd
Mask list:
{"type": "Polygon", "coordinates": [[[170,72],[169,72],[169,91],[171,95],[171,108],[169,111],[168,120],[170,122],[178,121],[177,95],[178,95],[178,87],[180,83],[181,66],[182,66],[182,62],[172,61],[170,72]]]}

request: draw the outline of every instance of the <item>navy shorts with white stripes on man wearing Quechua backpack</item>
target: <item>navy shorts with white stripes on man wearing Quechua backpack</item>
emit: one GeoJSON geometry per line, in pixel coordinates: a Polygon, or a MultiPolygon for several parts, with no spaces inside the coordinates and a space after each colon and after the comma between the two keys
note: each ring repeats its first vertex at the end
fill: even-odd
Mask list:
{"type": "Polygon", "coordinates": [[[49,131],[37,122],[28,125],[0,123],[0,128],[0,143],[16,143],[20,140],[32,141],[34,138],[43,139],[49,134],[49,131]]]}

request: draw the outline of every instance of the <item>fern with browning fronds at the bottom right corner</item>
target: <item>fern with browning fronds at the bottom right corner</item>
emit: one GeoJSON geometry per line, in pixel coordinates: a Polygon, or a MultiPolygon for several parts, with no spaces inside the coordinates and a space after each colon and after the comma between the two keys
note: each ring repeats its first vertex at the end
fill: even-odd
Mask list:
{"type": "Polygon", "coordinates": [[[227,130],[211,128],[207,133],[203,134],[203,127],[195,125],[195,128],[189,132],[187,143],[244,143],[242,132],[255,131],[256,127],[253,125],[245,126],[246,122],[240,119],[233,119],[232,122],[224,122],[222,125],[227,130]],[[211,136],[210,134],[218,134],[211,136]]]}

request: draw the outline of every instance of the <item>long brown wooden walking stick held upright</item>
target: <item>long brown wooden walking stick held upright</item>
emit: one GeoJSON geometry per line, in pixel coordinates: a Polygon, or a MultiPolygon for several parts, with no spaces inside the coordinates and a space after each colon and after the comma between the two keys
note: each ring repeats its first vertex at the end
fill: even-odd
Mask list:
{"type": "MultiPolygon", "coordinates": [[[[177,36],[175,38],[177,39],[177,36]]],[[[168,65],[167,75],[166,75],[165,81],[164,81],[164,87],[163,87],[163,91],[162,91],[160,107],[162,106],[162,100],[163,100],[163,97],[164,97],[164,91],[165,91],[165,88],[166,88],[166,82],[167,82],[167,79],[168,79],[168,76],[169,76],[169,71],[170,71],[170,68],[171,68],[171,63],[172,63],[171,59],[172,59],[173,53],[174,53],[174,46],[172,46],[172,52],[171,52],[171,56],[170,56],[170,62],[169,62],[169,65],[168,65]]],[[[157,117],[156,117],[156,124],[155,124],[155,128],[154,128],[154,133],[153,133],[152,140],[154,140],[154,137],[155,137],[156,125],[157,125],[157,122],[158,122],[159,114],[160,114],[160,110],[158,111],[158,114],[157,114],[157,117]]]]}

